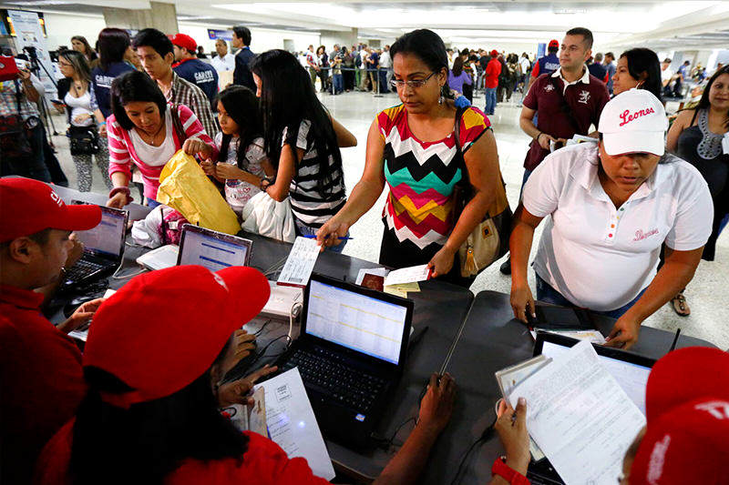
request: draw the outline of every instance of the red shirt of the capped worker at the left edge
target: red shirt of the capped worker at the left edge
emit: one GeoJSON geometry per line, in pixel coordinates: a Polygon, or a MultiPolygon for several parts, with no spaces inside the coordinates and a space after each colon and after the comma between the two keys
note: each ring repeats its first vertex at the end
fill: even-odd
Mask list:
{"type": "Polygon", "coordinates": [[[28,483],[47,440],[86,393],[81,352],[40,312],[43,295],[0,286],[0,483],[28,483]]]}

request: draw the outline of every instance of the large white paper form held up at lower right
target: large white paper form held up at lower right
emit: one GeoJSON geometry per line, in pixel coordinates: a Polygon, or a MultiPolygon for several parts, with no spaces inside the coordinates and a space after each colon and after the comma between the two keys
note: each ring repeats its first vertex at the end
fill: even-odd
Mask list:
{"type": "Polygon", "coordinates": [[[587,341],[552,360],[509,396],[527,399],[527,429],[568,485],[614,484],[645,417],[587,341]]]}

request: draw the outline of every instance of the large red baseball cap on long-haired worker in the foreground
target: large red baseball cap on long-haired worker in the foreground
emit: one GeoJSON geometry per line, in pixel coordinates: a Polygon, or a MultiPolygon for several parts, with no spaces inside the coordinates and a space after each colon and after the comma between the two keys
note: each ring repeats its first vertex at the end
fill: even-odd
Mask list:
{"type": "Polygon", "coordinates": [[[133,278],[94,315],[83,364],[128,387],[102,393],[128,409],[184,389],[207,370],[236,328],[261,312],[271,289],[260,271],[200,266],[159,269],[133,278]]]}

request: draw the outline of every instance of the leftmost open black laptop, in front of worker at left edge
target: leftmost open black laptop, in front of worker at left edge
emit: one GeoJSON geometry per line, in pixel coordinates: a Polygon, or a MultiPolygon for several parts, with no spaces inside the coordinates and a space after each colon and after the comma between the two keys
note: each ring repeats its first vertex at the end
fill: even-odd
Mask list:
{"type": "MultiPolygon", "coordinates": [[[[87,204],[73,200],[72,204],[87,204]]],[[[80,288],[113,275],[124,258],[124,240],[129,213],[112,207],[101,207],[101,222],[87,231],[77,231],[84,243],[84,254],[67,269],[63,289],[80,288]]]]}

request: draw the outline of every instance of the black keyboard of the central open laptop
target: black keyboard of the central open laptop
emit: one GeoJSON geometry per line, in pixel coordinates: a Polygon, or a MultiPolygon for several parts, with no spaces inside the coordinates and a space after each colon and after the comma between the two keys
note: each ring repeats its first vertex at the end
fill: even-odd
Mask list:
{"type": "Polygon", "coordinates": [[[326,349],[296,350],[282,371],[294,367],[299,368],[307,388],[363,413],[372,408],[375,397],[385,388],[384,379],[355,371],[342,362],[341,356],[326,349]]]}

